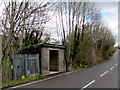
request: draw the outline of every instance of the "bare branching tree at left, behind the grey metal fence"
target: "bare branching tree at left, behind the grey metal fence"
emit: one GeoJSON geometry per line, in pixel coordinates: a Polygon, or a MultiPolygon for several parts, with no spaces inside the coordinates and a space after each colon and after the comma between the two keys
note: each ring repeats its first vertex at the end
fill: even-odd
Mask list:
{"type": "MultiPolygon", "coordinates": [[[[46,19],[49,5],[49,2],[4,1],[5,8],[1,17],[4,40],[2,60],[8,60],[7,68],[11,66],[12,56],[23,46],[23,40],[27,40],[27,37],[34,37],[34,43],[40,40],[44,24],[49,20],[46,19]]],[[[6,73],[8,72],[10,71],[7,69],[6,73]]]]}

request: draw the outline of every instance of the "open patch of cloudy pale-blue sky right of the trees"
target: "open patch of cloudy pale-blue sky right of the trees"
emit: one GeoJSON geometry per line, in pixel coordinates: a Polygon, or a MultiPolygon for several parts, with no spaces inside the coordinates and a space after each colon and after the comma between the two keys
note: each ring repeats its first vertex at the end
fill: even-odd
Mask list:
{"type": "Polygon", "coordinates": [[[101,9],[104,24],[107,25],[113,35],[118,37],[118,2],[97,2],[101,9]]]}

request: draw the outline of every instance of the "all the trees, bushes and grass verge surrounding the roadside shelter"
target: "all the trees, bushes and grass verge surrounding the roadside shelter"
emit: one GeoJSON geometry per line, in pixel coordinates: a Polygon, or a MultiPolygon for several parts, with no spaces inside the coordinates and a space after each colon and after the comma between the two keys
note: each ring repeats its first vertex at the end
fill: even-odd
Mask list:
{"type": "Polygon", "coordinates": [[[64,45],[66,71],[91,67],[109,60],[115,53],[115,38],[94,2],[15,1],[4,1],[0,19],[3,87],[44,77],[38,75],[11,81],[12,56],[28,46],[39,43],[64,45]],[[46,27],[54,19],[52,34],[46,27]]]}

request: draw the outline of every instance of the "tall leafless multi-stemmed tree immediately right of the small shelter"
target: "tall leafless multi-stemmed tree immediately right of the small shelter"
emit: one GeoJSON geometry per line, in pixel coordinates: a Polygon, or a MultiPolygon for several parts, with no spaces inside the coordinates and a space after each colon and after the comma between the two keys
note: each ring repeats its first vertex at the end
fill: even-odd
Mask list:
{"type": "Polygon", "coordinates": [[[85,61],[88,59],[86,55],[91,57],[90,54],[97,47],[96,42],[104,37],[106,30],[108,31],[104,29],[99,9],[93,2],[61,1],[56,3],[56,7],[61,20],[59,28],[62,32],[62,42],[66,46],[66,64],[76,66],[76,59],[81,60],[78,65],[87,62],[91,64],[92,61],[85,61]]]}

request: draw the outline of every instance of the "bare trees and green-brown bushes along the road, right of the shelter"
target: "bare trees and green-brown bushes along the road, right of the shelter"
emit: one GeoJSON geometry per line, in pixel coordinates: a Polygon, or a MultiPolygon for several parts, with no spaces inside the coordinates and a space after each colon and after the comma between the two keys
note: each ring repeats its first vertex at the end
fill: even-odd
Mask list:
{"type": "Polygon", "coordinates": [[[55,5],[58,21],[61,20],[62,44],[66,46],[66,66],[77,69],[109,60],[115,52],[115,39],[95,3],[58,2],[55,5]]]}

